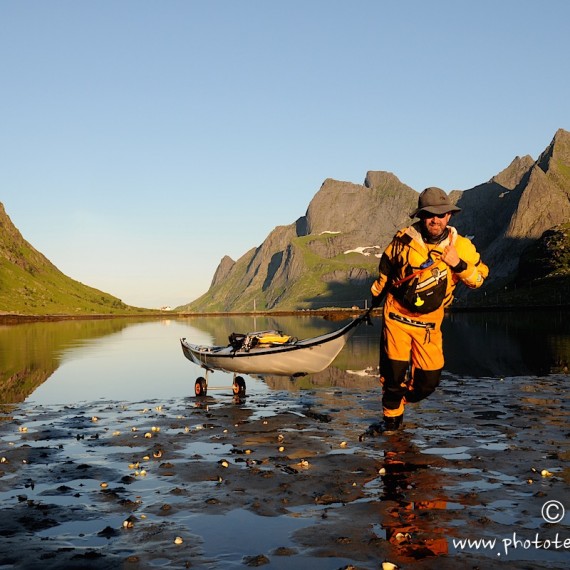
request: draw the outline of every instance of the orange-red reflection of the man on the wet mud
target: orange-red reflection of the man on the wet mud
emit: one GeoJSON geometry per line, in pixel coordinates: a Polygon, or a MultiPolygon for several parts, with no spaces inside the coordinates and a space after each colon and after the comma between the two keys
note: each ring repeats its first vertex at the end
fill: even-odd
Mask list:
{"type": "Polygon", "coordinates": [[[434,457],[429,457],[428,464],[427,456],[419,452],[405,431],[387,435],[384,445],[381,500],[394,504],[383,509],[386,540],[403,559],[447,554],[449,529],[441,526],[440,520],[447,518],[447,498],[442,472],[433,465],[434,457]]]}

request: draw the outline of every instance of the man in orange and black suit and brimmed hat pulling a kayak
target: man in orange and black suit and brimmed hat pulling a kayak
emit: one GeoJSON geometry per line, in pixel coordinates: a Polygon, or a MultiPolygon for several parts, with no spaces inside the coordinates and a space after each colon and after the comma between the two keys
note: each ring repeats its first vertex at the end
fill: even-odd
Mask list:
{"type": "Polygon", "coordinates": [[[410,214],[419,218],[400,230],[380,259],[372,306],[384,302],[380,375],[383,423],[373,432],[396,430],[404,405],[427,398],[443,369],[441,322],[458,282],[476,289],[489,273],[471,241],[448,222],[454,206],[439,188],[427,188],[410,214]],[[408,369],[411,362],[411,377],[408,369]]]}

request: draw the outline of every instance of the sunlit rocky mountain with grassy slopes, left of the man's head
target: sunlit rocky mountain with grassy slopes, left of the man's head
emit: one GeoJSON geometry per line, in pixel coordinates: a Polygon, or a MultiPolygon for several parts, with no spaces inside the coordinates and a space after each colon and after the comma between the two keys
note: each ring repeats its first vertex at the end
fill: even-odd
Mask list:
{"type": "Polygon", "coordinates": [[[417,193],[389,172],[369,172],[363,185],[327,179],[305,216],[275,228],[239,260],[224,257],[208,293],[180,309],[299,309],[362,301],[383,244],[409,220],[416,202],[417,193]]]}

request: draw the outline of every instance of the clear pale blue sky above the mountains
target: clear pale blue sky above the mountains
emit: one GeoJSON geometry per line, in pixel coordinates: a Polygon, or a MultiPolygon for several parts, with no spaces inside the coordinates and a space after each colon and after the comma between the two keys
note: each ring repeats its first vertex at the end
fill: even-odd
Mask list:
{"type": "Polygon", "coordinates": [[[570,130],[569,21],[566,0],[0,0],[0,201],[68,276],[177,306],[326,178],[464,190],[537,158],[570,130]]]}

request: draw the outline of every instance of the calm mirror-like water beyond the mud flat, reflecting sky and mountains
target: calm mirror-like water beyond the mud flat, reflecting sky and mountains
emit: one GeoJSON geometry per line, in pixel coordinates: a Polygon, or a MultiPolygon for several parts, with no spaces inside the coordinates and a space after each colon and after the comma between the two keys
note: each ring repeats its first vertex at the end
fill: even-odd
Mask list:
{"type": "MultiPolygon", "coordinates": [[[[564,371],[570,361],[568,313],[460,313],[444,322],[446,371],[507,377],[564,371]]],[[[0,327],[0,403],[68,404],[100,399],[142,401],[193,395],[203,374],[187,361],[179,339],[227,344],[231,332],[277,328],[307,338],[346,321],[314,317],[217,317],[63,321],[0,327]]],[[[372,381],[381,320],[362,325],[326,371],[290,381],[246,378],[248,392],[372,381]]],[[[227,387],[216,372],[209,385],[227,387]]]]}

